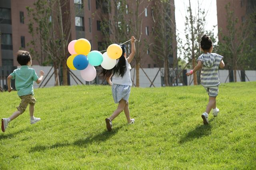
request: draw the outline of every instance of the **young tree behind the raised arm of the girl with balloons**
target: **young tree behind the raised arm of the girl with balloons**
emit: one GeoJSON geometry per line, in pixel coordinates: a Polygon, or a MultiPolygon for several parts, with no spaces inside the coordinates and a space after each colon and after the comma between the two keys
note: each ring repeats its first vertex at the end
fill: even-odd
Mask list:
{"type": "Polygon", "coordinates": [[[100,4],[102,9],[106,8],[104,7],[106,3],[108,4],[108,12],[100,14],[100,18],[102,18],[101,30],[107,44],[125,42],[129,40],[132,35],[138,40],[135,44],[137,49],[135,55],[136,87],[140,85],[139,70],[143,58],[143,53],[140,49],[147,46],[147,44],[143,44],[143,13],[145,12],[144,9],[150,6],[151,1],[152,0],[111,0],[103,1],[100,4]]]}

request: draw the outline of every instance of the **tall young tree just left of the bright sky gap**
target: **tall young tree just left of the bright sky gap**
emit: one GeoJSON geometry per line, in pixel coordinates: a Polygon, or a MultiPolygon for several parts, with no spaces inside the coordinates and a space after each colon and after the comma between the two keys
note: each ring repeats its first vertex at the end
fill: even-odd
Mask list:
{"type": "Polygon", "coordinates": [[[154,2],[154,31],[152,57],[158,56],[164,62],[164,84],[169,86],[169,58],[174,59],[173,69],[177,68],[176,27],[174,1],[161,0],[154,2]]]}

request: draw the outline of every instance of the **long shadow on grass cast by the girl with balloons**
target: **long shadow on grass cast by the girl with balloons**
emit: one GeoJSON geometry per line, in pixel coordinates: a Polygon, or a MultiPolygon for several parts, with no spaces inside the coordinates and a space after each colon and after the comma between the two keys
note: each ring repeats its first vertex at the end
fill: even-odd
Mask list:
{"type": "Polygon", "coordinates": [[[74,141],[73,143],[69,143],[69,142],[59,143],[59,142],[57,142],[56,144],[53,144],[51,146],[37,145],[37,146],[34,146],[34,147],[30,148],[29,152],[37,152],[37,151],[43,151],[43,150],[46,150],[46,149],[65,147],[65,146],[71,146],[71,145],[86,147],[88,144],[91,144],[93,142],[100,143],[100,142],[106,141],[108,138],[110,138],[111,136],[116,134],[120,128],[122,128],[122,127],[116,127],[111,132],[104,131],[100,134],[96,134],[93,137],[87,137],[85,139],[79,139],[79,140],[74,141]]]}

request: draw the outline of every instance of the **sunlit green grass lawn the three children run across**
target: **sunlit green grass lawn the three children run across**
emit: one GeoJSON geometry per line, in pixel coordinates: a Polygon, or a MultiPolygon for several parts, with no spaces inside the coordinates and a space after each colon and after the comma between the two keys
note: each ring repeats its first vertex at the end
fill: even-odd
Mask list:
{"type": "MultiPolygon", "coordinates": [[[[0,169],[256,169],[256,82],[219,88],[218,117],[203,125],[204,88],[132,88],[130,113],[106,131],[116,109],[110,86],[35,90],[35,117],[29,111],[0,132],[0,169]]],[[[9,117],[20,99],[0,93],[0,117],[9,117]]]]}

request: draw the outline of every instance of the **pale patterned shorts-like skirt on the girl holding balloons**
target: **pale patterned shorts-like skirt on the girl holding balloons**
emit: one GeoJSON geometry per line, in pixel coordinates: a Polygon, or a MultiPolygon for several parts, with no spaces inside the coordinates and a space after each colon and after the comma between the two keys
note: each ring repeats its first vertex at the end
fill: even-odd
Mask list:
{"type": "Polygon", "coordinates": [[[128,103],[130,93],[131,93],[130,85],[112,84],[112,95],[115,103],[119,103],[121,99],[124,99],[126,103],[128,103]]]}

